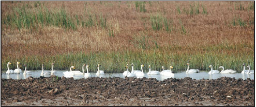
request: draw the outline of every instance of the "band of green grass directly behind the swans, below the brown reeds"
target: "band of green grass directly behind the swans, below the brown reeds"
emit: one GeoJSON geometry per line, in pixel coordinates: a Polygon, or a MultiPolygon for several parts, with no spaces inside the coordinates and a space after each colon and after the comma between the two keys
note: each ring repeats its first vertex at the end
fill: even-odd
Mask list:
{"type": "MultiPolygon", "coordinates": [[[[141,69],[141,64],[144,64],[144,71],[148,72],[148,65],[152,66],[152,69],[161,71],[161,66],[165,69],[169,66],[174,66],[174,72],[185,71],[186,63],[190,63],[190,68],[197,68],[200,70],[209,70],[210,64],[214,65],[214,69],[218,69],[219,66],[224,66],[225,69],[234,69],[238,73],[243,70],[243,63],[249,64],[251,69],[253,66],[253,57],[243,56],[244,54],[253,55],[253,53],[238,53],[231,55],[225,52],[183,52],[178,51],[160,51],[158,49],[146,50],[146,51],[123,51],[123,52],[99,52],[99,53],[68,53],[64,55],[56,55],[50,57],[42,56],[29,56],[22,59],[7,59],[2,63],[8,61],[15,63],[20,61],[21,65],[26,64],[28,69],[41,69],[41,64],[44,64],[45,69],[51,69],[51,63],[54,62],[54,69],[69,70],[70,66],[75,66],[76,69],[82,71],[83,64],[89,64],[90,72],[97,72],[97,64],[101,64],[100,69],[105,73],[122,73],[126,69],[124,68],[128,63],[134,64],[134,69],[141,69]]],[[[2,64],[2,68],[6,69],[6,64],[2,64]]],[[[16,68],[16,64],[10,66],[10,68],[16,68]]],[[[23,67],[22,67],[23,68],[23,67]]],[[[131,70],[131,66],[129,66],[131,70]]],[[[220,69],[218,69],[220,70],[220,69]]]]}

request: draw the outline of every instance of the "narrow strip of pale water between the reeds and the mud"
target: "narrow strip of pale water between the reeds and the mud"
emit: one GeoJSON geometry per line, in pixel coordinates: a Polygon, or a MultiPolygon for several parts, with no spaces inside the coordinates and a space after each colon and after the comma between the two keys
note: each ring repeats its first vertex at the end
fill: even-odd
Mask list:
{"type": "MultiPolygon", "coordinates": [[[[50,70],[45,70],[45,71],[50,71],[50,70]]],[[[42,70],[31,70],[32,75],[22,75],[22,74],[5,74],[6,71],[2,71],[2,78],[5,79],[26,79],[30,76],[34,77],[34,78],[38,78],[40,77],[40,74],[42,72],[42,70]]],[[[23,71],[24,72],[24,71],[23,71]]],[[[66,72],[65,70],[56,70],[56,76],[58,77],[63,77],[63,72],[66,72]]],[[[96,75],[96,73],[90,73],[91,77],[98,77],[96,75]]],[[[50,77],[51,75],[44,75],[43,77],[50,77]]],[[[121,77],[124,78],[123,73],[105,73],[105,75],[100,75],[100,78],[108,78],[108,77],[121,77]]],[[[185,77],[191,77],[192,79],[217,79],[217,78],[221,78],[221,77],[231,77],[231,78],[242,78],[244,80],[246,80],[247,78],[249,79],[254,79],[254,74],[252,75],[247,75],[247,74],[240,74],[240,73],[236,73],[236,74],[211,74],[209,75],[208,72],[200,72],[200,73],[194,73],[194,74],[186,74],[185,72],[180,72],[180,73],[174,73],[174,76],[161,76],[161,75],[147,75],[145,73],[146,78],[156,78],[157,80],[164,80],[164,79],[168,79],[168,78],[185,78],[185,77]]],[[[74,75],[73,76],[74,79],[81,79],[81,78],[86,78],[83,75],[74,75]]],[[[137,77],[137,78],[143,78],[143,77],[137,77]]]]}

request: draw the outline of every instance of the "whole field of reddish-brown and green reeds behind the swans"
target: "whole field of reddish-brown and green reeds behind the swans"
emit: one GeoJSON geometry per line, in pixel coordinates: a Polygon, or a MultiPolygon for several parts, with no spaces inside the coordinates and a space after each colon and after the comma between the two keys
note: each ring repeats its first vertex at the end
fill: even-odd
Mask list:
{"type": "Polygon", "coordinates": [[[2,2],[1,69],[254,69],[253,2],[2,2]],[[10,67],[14,69],[15,64],[10,67]],[[21,67],[23,68],[23,67],[21,67]]]}

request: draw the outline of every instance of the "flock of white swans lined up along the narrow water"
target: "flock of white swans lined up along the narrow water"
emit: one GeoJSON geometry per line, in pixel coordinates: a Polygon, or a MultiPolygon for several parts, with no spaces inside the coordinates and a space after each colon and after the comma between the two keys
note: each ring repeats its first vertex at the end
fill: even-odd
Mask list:
{"type": "MultiPolygon", "coordinates": [[[[9,65],[11,65],[10,62],[7,63],[7,71],[6,71],[6,74],[22,74],[22,70],[19,68],[19,64],[20,62],[17,62],[17,68],[12,70],[9,68],[9,65]]],[[[41,76],[43,75],[54,75],[56,74],[56,71],[53,70],[53,65],[54,63],[51,63],[51,70],[49,71],[44,71],[44,65],[42,64],[42,72],[41,72],[41,76]]],[[[187,70],[186,70],[186,74],[187,73],[200,73],[199,69],[189,69],[189,63],[186,64],[187,65],[187,70]]],[[[23,65],[25,67],[25,70],[23,72],[23,75],[31,75],[32,72],[31,71],[28,71],[27,70],[27,65],[23,65]]],[[[103,70],[100,70],[100,64],[97,65],[97,73],[96,75],[99,76],[99,75],[104,75],[104,71],[103,70]]],[[[145,72],[143,71],[143,67],[144,65],[142,64],[141,65],[141,70],[134,70],[133,68],[133,63],[131,64],[131,72],[129,72],[129,64],[127,64],[124,68],[126,68],[126,70],[123,72],[123,76],[124,77],[140,77],[140,76],[145,76],[145,72]]],[[[83,64],[82,66],[82,72],[80,72],[79,70],[72,70],[72,69],[75,69],[74,66],[71,66],[70,67],[70,71],[66,71],[66,72],[63,72],[64,76],[65,77],[72,77],[74,75],[83,75],[84,77],[89,77],[91,76],[91,74],[88,72],[88,68],[89,68],[89,65],[88,64],[83,64]],[[84,70],[84,66],[86,66],[86,73],[85,73],[85,70],[84,70]]],[[[172,68],[173,66],[170,66],[169,69],[165,69],[164,70],[164,66],[161,67],[163,70],[161,72],[157,71],[157,70],[151,70],[152,67],[150,65],[148,65],[148,72],[147,72],[147,75],[162,75],[162,76],[173,76],[174,73],[172,71],[172,68]]],[[[219,66],[219,69],[222,69],[221,71],[219,70],[214,70],[213,69],[213,65],[209,65],[209,72],[208,74],[209,75],[212,75],[212,74],[234,74],[236,73],[236,70],[232,70],[232,69],[224,69],[223,66],[219,66]]],[[[250,65],[248,65],[247,67],[245,67],[245,64],[243,64],[243,70],[241,72],[241,74],[254,74],[254,70],[251,70],[250,69],[250,65]],[[246,70],[246,68],[248,68],[248,70],[246,70]]]]}

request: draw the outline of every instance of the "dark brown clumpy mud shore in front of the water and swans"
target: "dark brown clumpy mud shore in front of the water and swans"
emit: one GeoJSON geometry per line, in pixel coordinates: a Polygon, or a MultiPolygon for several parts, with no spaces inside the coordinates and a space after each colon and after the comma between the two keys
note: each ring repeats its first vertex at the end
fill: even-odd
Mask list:
{"type": "Polygon", "coordinates": [[[28,77],[1,79],[2,105],[251,105],[254,81],[28,77]]]}

